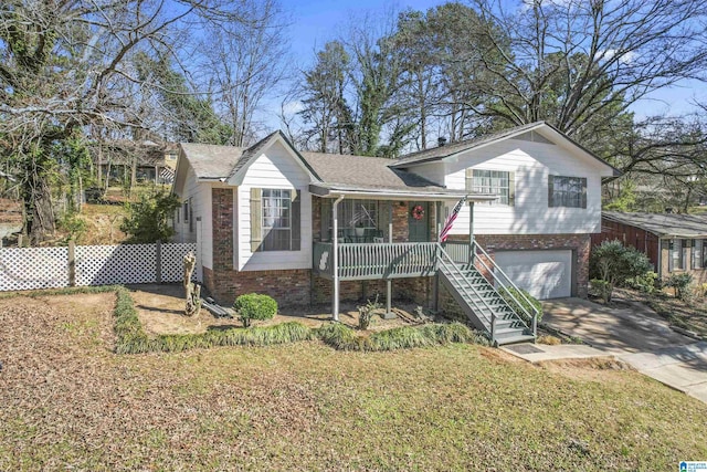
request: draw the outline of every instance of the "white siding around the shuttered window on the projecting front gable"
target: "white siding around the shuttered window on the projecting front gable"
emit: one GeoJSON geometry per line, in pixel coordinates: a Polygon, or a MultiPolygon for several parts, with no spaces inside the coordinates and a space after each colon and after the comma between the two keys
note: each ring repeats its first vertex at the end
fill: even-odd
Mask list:
{"type": "Polygon", "coordinates": [[[247,168],[243,182],[238,187],[235,213],[235,266],[240,271],[293,270],[312,268],[312,195],[309,176],[288,149],[276,141],[264,150],[247,168]],[[299,251],[251,250],[251,189],[300,190],[299,251]]]}

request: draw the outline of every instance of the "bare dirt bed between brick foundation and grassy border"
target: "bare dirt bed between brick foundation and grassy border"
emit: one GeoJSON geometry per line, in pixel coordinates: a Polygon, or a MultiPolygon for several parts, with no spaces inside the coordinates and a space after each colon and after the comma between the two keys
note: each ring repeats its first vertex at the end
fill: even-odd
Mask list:
{"type": "MultiPolygon", "coordinates": [[[[183,289],[178,284],[136,285],[130,287],[130,295],[135,301],[138,317],[148,335],[200,334],[214,326],[242,327],[238,317],[215,317],[204,308],[201,310],[198,317],[184,316],[183,289]]],[[[397,315],[395,318],[383,319],[382,316],[374,316],[369,331],[377,332],[421,323],[414,315],[416,306],[412,303],[395,302],[392,310],[397,315]]],[[[253,326],[298,322],[305,326],[319,327],[331,321],[330,310],[329,305],[283,307],[273,319],[253,322],[253,326]]],[[[351,327],[358,326],[356,304],[342,303],[340,310],[339,321],[341,323],[351,327]]],[[[383,312],[384,308],[380,308],[377,313],[382,315],[383,312]]]]}

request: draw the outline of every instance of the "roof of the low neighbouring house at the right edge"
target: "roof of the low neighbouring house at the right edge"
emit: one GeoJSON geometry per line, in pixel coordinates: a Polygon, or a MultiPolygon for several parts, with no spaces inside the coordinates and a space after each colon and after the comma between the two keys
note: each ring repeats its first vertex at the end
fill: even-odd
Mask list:
{"type": "Polygon", "coordinates": [[[697,214],[603,211],[602,217],[644,229],[661,238],[707,238],[707,217],[697,214]]]}

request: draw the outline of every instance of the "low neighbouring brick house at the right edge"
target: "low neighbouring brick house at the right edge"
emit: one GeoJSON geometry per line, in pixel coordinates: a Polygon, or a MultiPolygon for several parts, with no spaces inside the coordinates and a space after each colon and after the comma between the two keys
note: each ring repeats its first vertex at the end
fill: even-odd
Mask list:
{"type": "Polygon", "coordinates": [[[689,272],[707,282],[707,217],[604,211],[592,245],[612,240],[644,252],[661,279],[689,272]]]}

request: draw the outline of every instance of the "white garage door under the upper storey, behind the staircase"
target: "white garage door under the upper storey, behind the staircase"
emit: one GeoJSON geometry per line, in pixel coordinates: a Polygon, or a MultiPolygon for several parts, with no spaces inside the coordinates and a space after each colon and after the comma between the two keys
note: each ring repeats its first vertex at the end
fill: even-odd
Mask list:
{"type": "Polygon", "coordinates": [[[496,264],[540,300],[572,295],[572,251],[496,251],[496,264]]]}

